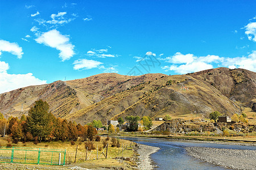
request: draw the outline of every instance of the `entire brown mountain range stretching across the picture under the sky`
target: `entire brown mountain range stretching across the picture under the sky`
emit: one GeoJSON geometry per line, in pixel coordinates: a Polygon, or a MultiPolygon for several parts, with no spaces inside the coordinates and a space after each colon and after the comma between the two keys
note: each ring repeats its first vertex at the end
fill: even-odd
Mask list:
{"type": "Polygon", "coordinates": [[[43,99],[55,116],[81,124],[126,115],[208,117],[219,111],[231,116],[241,113],[241,105],[252,107],[256,102],[255,76],[248,70],[228,68],[171,76],[104,73],[0,94],[0,112],[21,116],[35,100],[43,99]]]}

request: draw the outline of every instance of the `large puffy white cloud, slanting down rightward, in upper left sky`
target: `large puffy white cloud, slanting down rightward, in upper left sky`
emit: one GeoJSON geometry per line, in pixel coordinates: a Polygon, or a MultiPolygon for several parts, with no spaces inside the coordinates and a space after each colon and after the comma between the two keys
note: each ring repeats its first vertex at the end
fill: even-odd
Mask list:
{"type": "Polygon", "coordinates": [[[61,35],[56,29],[44,32],[38,39],[35,39],[39,44],[44,44],[52,48],[60,50],[59,57],[62,61],[70,59],[73,57],[75,52],[73,51],[75,45],[69,42],[68,36],[61,35]]]}

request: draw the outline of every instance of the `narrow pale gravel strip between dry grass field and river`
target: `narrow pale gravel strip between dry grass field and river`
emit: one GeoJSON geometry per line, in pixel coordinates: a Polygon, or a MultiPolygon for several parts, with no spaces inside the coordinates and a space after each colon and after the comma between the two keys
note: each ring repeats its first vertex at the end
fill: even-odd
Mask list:
{"type": "Polygon", "coordinates": [[[138,144],[137,153],[139,154],[138,169],[154,169],[150,155],[157,152],[160,148],[138,144]]]}

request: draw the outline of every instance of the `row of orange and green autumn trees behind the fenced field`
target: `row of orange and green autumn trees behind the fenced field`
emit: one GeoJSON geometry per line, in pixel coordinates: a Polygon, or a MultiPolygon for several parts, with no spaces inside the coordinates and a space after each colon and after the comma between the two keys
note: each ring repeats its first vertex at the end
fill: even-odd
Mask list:
{"type": "Polygon", "coordinates": [[[63,118],[56,118],[49,112],[49,105],[46,101],[35,101],[28,111],[18,117],[9,117],[6,120],[0,113],[0,134],[10,135],[14,142],[18,141],[76,141],[78,137],[89,141],[96,138],[95,126],[102,126],[101,122],[92,122],[82,126],[76,122],[67,121],[63,118]]]}

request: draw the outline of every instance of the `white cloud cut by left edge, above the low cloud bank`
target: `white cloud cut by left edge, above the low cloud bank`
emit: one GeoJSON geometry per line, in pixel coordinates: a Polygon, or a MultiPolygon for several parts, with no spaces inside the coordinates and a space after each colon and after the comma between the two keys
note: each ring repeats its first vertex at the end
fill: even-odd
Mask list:
{"type": "Polygon", "coordinates": [[[18,58],[22,58],[23,55],[22,48],[17,43],[5,40],[0,40],[0,56],[1,52],[9,52],[18,58]]]}

